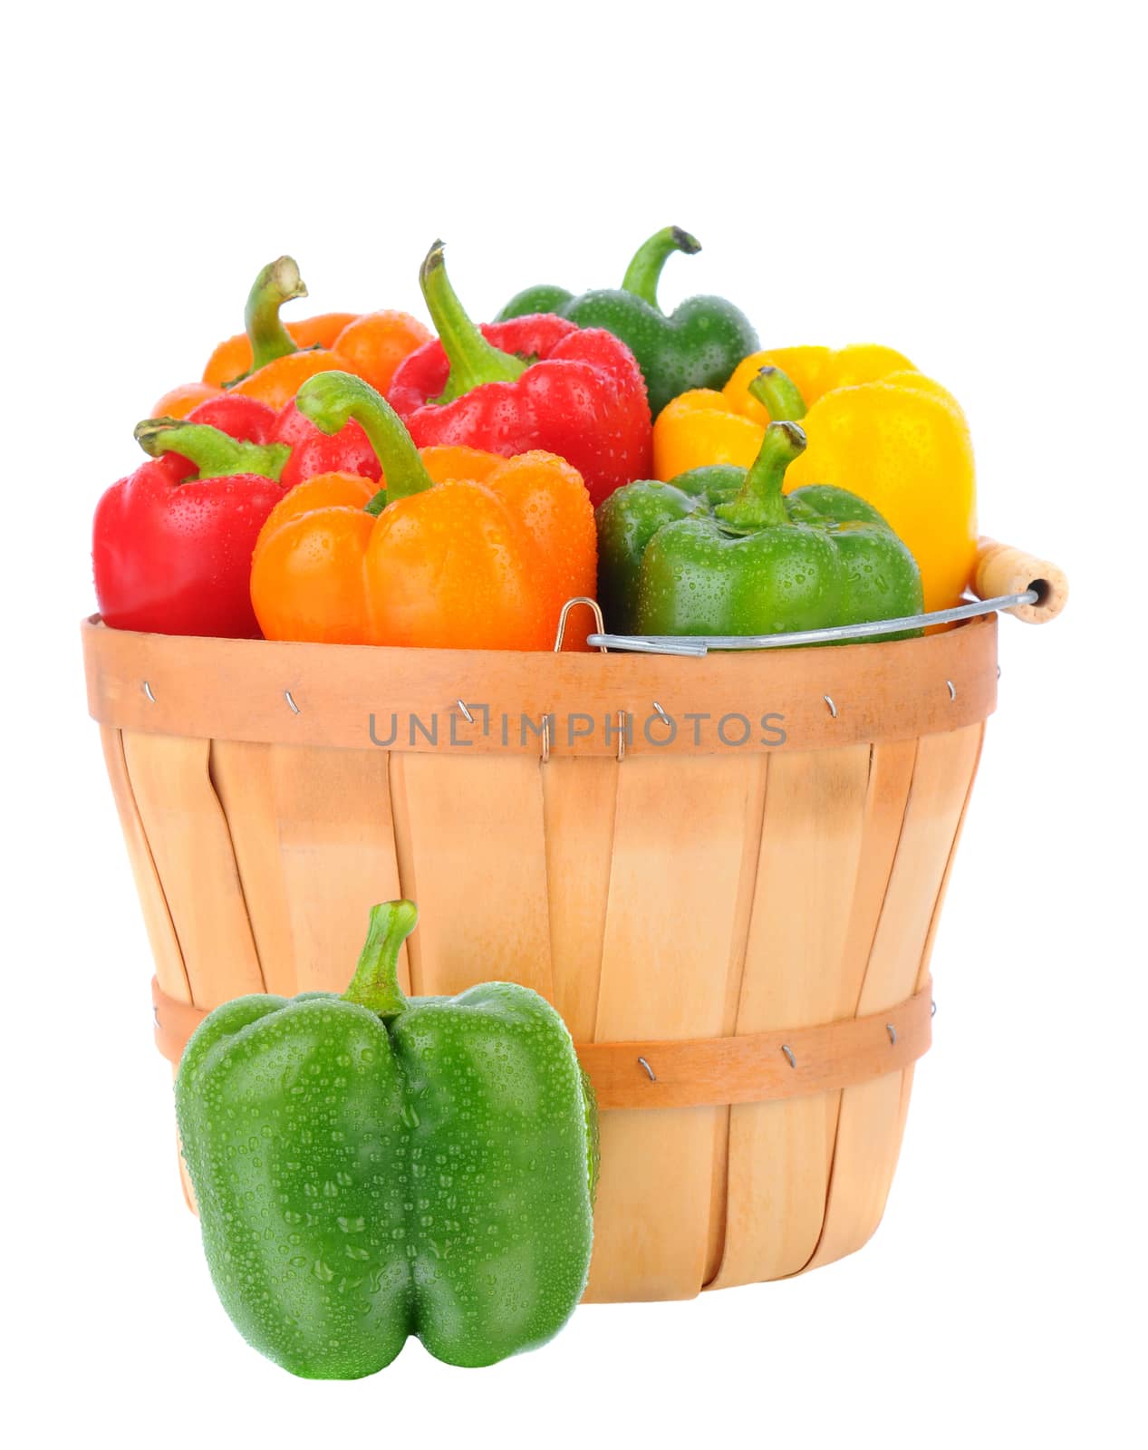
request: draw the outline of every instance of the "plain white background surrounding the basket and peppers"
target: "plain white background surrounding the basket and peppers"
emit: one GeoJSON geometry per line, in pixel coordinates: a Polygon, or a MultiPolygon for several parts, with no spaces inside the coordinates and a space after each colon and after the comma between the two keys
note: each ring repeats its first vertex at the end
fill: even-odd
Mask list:
{"type": "Polygon", "coordinates": [[[1131,6],[54,6],[9,17],[3,1302],[13,1444],[1142,1444],[1142,48],[1131,6]],[[29,14],[33,19],[29,19],[29,14]],[[14,26],[14,29],[13,29],[14,26]],[[1074,596],[1003,679],[886,1221],[809,1277],[580,1309],[486,1373],[294,1380],[216,1305],[78,621],[130,429],[293,252],[297,312],[620,281],[881,341],[1074,596]],[[14,513],[13,513],[14,510],[14,513]],[[703,1438],[704,1437],[704,1438],[703,1438]]]}

